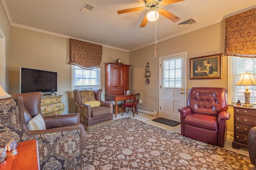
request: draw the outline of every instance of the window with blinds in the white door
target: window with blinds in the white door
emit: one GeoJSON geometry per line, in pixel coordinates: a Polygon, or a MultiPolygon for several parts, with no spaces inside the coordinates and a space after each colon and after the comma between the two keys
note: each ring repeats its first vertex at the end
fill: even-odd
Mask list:
{"type": "Polygon", "coordinates": [[[181,58],[163,61],[164,88],[181,88],[181,58]]]}

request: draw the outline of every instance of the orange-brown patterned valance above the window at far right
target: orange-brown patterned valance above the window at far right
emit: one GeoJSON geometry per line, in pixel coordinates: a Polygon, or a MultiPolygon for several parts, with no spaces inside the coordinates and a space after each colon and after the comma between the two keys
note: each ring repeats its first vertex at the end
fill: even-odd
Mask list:
{"type": "Polygon", "coordinates": [[[226,18],[224,55],[256,57],[256,8],[226,18]]]}

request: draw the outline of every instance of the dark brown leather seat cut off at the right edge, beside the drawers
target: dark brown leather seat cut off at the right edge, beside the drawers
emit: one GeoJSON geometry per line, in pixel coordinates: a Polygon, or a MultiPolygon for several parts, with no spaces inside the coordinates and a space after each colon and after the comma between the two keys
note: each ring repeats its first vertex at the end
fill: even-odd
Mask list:
{"type": "MultiPolygon", "coordinates": [[[[251,163],[256,166],[256,127],[250,129],[248,134],[248,151],[251,163]]],[[[256,169],[256,168],[254,168],[256,169]]]]}

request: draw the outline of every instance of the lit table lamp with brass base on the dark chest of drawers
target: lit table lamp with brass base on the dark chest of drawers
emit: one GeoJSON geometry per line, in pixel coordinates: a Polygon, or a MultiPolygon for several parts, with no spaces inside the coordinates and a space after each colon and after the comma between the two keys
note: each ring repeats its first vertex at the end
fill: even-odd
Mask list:
{"type": "Polygon", "coordinates": [[[248,86],[256,85],[256,80],[252,76],[252,73],[246,72],[246,73],[241,74],[240,79],[238,80],[238,82],[235,85],[236,86],[246,86],[246,88],[245,88],[246,91],[244,92],[245,103],[242,106],[253,107],[250,104],[250,94],[251,93],[248,91],[248,86]]]}

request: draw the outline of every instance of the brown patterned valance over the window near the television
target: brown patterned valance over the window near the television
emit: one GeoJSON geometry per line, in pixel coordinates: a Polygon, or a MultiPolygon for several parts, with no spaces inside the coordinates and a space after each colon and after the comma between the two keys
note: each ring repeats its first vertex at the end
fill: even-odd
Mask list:
{"type": "Polygon", "coordinates": [[[85,69],[100,68],[102,45],[70,39],[69,64],[85,69]]]}

